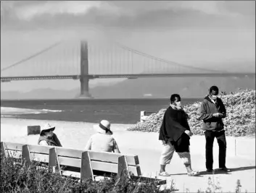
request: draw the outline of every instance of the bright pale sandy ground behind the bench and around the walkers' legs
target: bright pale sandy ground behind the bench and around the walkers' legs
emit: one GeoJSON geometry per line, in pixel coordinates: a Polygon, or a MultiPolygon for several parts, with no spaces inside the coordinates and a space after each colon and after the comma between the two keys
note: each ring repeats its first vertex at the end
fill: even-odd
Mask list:
{"type": "MultiPolygon", "coordinates": [[[[36,145],[38,135],[27,135],[27,126],[50,123],[56,126],[55,133],[62,142],[63,147],[83,150],[91,134],[94,134],[93,123],[44,121],[1,118],[1,141],[20,142],[36,145]]],[[[168,185],[173,179],[177,192],[197,192],[198,189],[205,191],[207,181],[211,177],[215,182],[220,182],[223,192],[235,192],[236,181],[240,179],[241,190],[255,192],[255,137],[226,137],[227,158],[226,166],[231,168],[230,173],[204,174],[191,177],[186,175],[186,168],[181,159],[175,153],[166,171],[170,177],[158,176],[159,158],[161,145],[157,133],[130,132],[126,131],[131,125],[112,124],[113,137],[120,147],[121,153],[139,155],[139,162],[143,176],[156,176],[167,179],[168,185]]],[[[205,137],[191,137],[191,163],[197,171],[205,171],[205,137]]],[[[218,144],[214,144],[214,168],[218,168],[218,144]]]]}

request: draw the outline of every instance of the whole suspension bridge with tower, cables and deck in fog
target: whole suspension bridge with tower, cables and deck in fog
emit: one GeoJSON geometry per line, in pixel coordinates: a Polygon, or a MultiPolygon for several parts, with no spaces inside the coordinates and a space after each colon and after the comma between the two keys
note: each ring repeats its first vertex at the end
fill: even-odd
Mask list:
{"type": "Polygon", "coordinates": [[[1,69],[1,82],[80,80],[80,96],[91,97],[88,82],[97,78],[255,77],[255,72],[220,72],[160,59],[120,43],[59,41],[1,69]]]}

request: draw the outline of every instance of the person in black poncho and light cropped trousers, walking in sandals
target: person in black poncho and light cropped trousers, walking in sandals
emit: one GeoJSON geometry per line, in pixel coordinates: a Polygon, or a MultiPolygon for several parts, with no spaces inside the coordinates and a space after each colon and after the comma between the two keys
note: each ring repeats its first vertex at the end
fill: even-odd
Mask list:
{"type": "Polygon", "coordinates": [[[162,142],[162,154],[160,156],[160,176],[170,176],[165,171],[165,166],[170,164],[173,153],[176,151],[183,160],[188,176],[197,176],[198,171],[191,168],[191,155],[189,151],[190,131],[187,121],[188,115],[181,106],[181,96],[173,94],[170,96],[170,106],[165,111],[160,127],[159,140],[162,142]]]}

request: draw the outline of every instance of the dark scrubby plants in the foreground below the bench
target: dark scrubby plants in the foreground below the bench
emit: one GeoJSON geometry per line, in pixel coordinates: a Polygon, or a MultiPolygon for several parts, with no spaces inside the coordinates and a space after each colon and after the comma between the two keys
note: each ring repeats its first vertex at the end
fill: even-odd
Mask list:
{"type": "Polygon", "coordinates": [[[58,173],[51,173],[47,168],[33,162],[30,166],[22,159],[5,158],[1,152],[1,192],[174,192],[174,189],[160,191],[155,183],[133,181],[123,175],[120,179],[111,176],[103,181],[74,181],[58,173]]]}

